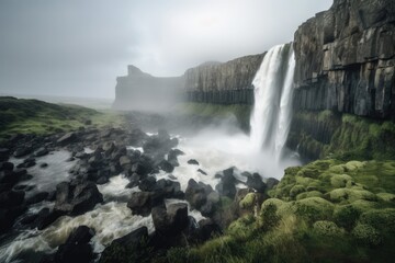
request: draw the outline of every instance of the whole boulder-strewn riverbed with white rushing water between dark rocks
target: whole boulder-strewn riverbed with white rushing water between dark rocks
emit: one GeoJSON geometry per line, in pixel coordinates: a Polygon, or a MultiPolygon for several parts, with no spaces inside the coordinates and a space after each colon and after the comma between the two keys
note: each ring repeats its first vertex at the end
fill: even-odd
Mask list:
{"type": "Polygon", "coordinates": [[[221,233],[245,213],[239,201],[278,181],[263,182],[239,144],[217,142],[139,128],[13,136],[0,149],[0,260],[138,260],[221,233]],[[142,254],[116,252],[132,247],[142,254]]]}

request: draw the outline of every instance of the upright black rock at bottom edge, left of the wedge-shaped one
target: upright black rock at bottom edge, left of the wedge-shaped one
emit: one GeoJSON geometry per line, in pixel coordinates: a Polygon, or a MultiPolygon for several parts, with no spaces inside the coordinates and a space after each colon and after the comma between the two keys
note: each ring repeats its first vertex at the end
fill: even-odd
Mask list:
{"type": "Polygon", "coordinates": [[[87,226],[78,227],[66,243],[60,244],[56,254],[56,263],[86,263],[93,260],[93,250],[89,244],[89,241],[93,237],[94,232],[87,226]]]}

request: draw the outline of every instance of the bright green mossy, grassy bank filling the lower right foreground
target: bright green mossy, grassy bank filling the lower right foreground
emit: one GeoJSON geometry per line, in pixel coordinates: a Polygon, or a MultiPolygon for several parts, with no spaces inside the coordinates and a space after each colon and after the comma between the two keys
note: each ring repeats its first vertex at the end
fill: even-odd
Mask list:
{"type": "MultiPolygon", "coordinates": [[[[394,183],[392,161],[330,159],[289,168],[258,215],[239,218],[203,245],[170,250],[158,262],[392,261],[394,183]],[[334,199],[334,191],[347,195],[334,199]]],[[[253,199],[249,194],[242,204],[253,199]]]]}

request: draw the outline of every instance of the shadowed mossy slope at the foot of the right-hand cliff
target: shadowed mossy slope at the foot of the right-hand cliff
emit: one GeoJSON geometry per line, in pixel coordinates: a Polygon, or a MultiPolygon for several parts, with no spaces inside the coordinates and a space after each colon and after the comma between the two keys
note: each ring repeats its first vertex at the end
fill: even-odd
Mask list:
{"type": "Polygon", "coordinates": [[[309,159],[395,159],[395,124],[330,111],[297,112],[287,144],[309,159]]]}

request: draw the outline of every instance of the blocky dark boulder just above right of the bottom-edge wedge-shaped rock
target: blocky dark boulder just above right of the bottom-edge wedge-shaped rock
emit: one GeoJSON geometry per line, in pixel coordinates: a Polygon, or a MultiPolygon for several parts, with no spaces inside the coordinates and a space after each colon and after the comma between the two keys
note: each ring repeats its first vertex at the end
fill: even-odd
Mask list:
{"type": "Polygon", "coordinates": [[[165,236],[176,236],[188,226],[188,205],[184,203],[156,206],[153,208],[156,231],[165,236]]]}

